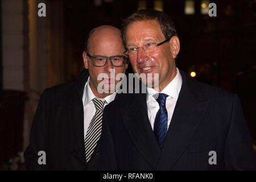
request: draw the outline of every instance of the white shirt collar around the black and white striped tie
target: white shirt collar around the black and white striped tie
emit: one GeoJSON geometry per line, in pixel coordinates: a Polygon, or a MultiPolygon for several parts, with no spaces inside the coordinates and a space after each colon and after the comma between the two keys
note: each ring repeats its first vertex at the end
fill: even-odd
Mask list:
{"type": "MultiPolygon", "coordinates": [[[[88,77],[88,80],[84,86],[84,94],[85,94],[84,106],[89,104],[89,102],[91,100],[93,100],[93,98],[96,98],[96,96],[92,92],[92,89],[90,89],[89,81],[90,81],[90,77],[88,77]]],[[[106,96],[105,98],[99,98],[99,99],[105,100],[109,104],[110,102],[112,102],[115,99],[116,94],[117,94],[117,92],[114,92],[113,94],[110,94],[109,96],[106,96]]]]}

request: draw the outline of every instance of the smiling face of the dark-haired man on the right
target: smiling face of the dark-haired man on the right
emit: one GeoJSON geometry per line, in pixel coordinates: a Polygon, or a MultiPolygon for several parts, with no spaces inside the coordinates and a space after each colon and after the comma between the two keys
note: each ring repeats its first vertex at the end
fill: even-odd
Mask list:
{"type": "MultiPolygon", "coordinates": [[[[127,49],[138,48],[148,43],[158,44],[166,40],[156,20],[142,20],[129,24],[125,36],[127,49]]],[[[135,73],[145,73],[147,77],[148,73],[152,73],[153,78],[154,73],[159,74],[160,90],[166,87],[176,75],[175,59],[170,43],[171,41],[158,46],[154,52],[144,52],[142,48],[139,48],[136,56],[129,56],[135,73]]],[[[154,85],[154,79],[152,81],[154,85]]]]}

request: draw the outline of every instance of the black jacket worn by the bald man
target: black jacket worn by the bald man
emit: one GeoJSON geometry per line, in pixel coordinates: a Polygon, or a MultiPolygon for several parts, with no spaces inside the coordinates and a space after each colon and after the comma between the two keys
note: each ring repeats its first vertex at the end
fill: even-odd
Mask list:
{"type": "Polygon", "coordinates": [[[27,169],[96,170],[100,142],[89,163],[85,160],[82,94],[88,77],[84,69],[76,82],[44,90],[24,152],[27,169]],[[46,152],[46,165],[38,164],[39,151],[46,152]]]}

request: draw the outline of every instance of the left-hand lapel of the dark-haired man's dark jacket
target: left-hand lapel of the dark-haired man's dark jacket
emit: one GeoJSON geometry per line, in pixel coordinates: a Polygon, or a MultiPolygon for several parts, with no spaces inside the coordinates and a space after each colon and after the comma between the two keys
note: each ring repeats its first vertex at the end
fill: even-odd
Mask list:
{"type": "Polygon", "coordinates": [[[152,131],[147,115],[146,94],[133,94],[122,107],[122,118],[134,145],[150,164],[156,168],[160,156],[160,148],[152,131]]]}

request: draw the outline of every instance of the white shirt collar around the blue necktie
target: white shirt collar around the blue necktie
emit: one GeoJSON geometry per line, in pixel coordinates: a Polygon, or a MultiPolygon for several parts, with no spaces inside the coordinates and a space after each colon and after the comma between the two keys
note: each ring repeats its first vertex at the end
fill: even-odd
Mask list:
{"type": "MultiPolygon", "coordinates": [[[[182,77],[180,75],[179,69],[177,69],[177,73],[174,79],[160,93],[167,94],[171,98],[175,98],[177,100],[180,93],[181,85],[182,85],[182,77]]],[[[156,92],[156,90],[150,87],[147,87],[147,100],[150,99],[152,96],[154,96],[154,94],[156,93],[158,93],[156,92]]]]}

